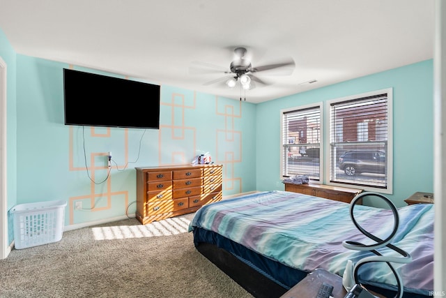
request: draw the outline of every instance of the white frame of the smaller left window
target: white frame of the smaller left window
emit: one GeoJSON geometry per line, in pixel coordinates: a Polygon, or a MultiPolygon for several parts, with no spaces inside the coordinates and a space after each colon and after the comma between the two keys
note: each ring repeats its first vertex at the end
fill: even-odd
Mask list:
{"type": "Polygon", "coordinates": [[[323,183],[323,165],[324,165],[324,139],[325,139],[325,135],[323,133],[324,131],[324,108],[323,108],[323,102],[317,102],[317,103],[311,103],[309,105],[299,105],[296,107],[289,107],[283,110],[280,110],[280,163],[279,163],[279,179],[283,180],[285,179],[283,172],[284,172],[284,144],[283,144],[283,140],[284,140],[284,114],[288,113],[288,112],[293,112],[293,111],[299,111],[299,110],[308,110],[308,109],[312,109],[312,108],[318,108],[319,112],[320,112],[320,122],[319,122],[319,180],[312,180],[312,183],[314,184],[322,184],[323,183]]]}

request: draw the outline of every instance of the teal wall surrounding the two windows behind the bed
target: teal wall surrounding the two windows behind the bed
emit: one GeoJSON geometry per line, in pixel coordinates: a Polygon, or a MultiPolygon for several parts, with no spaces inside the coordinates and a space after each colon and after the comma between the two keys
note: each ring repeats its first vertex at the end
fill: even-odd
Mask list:
{"type": "Polygon", "coordinates": [[[390,87],[393,88],[394,174],[393,194],[387,196],[401,207],[405,205],[403,200],[416,191],[433,192],[432,60],[257,105],[256,189],[284,189],[279,163],[280,110],[390,87]]]}

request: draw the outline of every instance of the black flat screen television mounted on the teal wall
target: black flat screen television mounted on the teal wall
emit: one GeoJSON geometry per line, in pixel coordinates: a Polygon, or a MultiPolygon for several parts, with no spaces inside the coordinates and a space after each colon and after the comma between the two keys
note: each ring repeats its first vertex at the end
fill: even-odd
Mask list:
{"type": "Polygon", "coordinates": [[[65,124],[160,128],[160,86],[63,68],[65,124]]]}

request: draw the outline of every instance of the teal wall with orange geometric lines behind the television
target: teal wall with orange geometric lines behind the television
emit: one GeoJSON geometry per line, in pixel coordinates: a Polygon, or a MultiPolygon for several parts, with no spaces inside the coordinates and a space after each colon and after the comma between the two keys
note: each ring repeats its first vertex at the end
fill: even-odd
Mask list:
{"type": "Polygon", "coordinates": [[[191,163],[207,151],[224,165],[223,195],[255,190],[256,177],[247,170],[255,168],[252,103],[162,85],[160,130],[66,126],[63,68],[70,67],[99,73],[17,55],[17,203],[66,200],[66,225],[123,216],[127,208],[134,214],[134,167],[191,163]],[[84,142],[95,182],[107,177],[105,155],[112,151],[117,166],[103,184],[87,175],[84,142]],[[79,200],[95,211],[74,210],[79,200]]]}

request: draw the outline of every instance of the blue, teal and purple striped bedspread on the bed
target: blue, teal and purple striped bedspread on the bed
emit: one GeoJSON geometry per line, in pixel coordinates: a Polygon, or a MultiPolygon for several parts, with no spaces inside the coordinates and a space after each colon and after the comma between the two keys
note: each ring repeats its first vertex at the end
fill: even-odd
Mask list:
{"type": "MultiPolygon", "coordinates": [[[[357,262],[369,252],[351,251],[342,241],[374,244],[351,221],[349,204],[311,195],[269,191],[222,200],[202,207],[190,223],[217,232],[284,265],[312,271],[323,268],[342,276],[347,260],[357,262]]],[[[408,292],[427,295],[433,290],[433,205],[398,209],[399,229],[392,244],[412,255],[409,264],[392,264],[408,292]]],[[[355,219],[371,234],[385,239],[393,229],[391,210],[355,206],[355,219]]],[[[383,255],[399,256],[388,248],[383,255]]],[[[395,278],[383,262],[364,265],[360,280],[393,288],[395,278]]]]}

